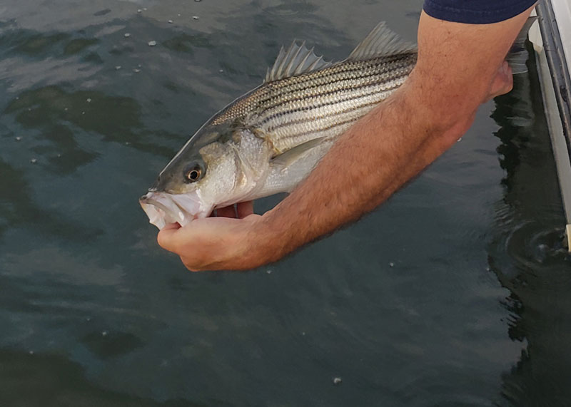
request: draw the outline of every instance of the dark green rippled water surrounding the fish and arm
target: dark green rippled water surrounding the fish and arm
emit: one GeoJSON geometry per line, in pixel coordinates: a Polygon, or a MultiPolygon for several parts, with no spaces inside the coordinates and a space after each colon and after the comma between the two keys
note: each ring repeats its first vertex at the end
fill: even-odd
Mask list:
{"type": "Polygon", "coordinates": [[[382,19],[414,40],[421,3],[5,0],[0,405],[567,406],[533,66],[386,205],[255,272],[187,272],[138,207],[279,46],[340,59],[382,19]]]}

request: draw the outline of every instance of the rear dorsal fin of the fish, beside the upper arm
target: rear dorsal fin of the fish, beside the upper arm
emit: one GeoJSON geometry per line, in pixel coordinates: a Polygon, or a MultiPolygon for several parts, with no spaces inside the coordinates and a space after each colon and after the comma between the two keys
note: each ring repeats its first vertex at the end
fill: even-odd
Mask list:
{"type": "Polygon", "coordinates": [[[363,61],[377,56],[417,51],[416,45],[403,40],[381,21],[353,50],[346,61],[363,61]]]}

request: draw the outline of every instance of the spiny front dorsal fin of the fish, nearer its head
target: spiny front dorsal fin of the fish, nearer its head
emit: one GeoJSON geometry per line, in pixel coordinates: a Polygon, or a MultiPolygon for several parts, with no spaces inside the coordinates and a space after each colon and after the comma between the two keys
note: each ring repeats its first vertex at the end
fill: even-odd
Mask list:
{"type": "Polygon", "coordinates": [[[318,71],[330,65],[330,62],[323,61],[323,56],[316,56],[315,53],[313,53],[313,48],[305,48],[305,42],[298,45],[293,41],[288,51],[285,51],[284,48],[281,47],[273,67],[271,69],[268,68],[266,82],[278,81],[278,79],[318,71]]]}

